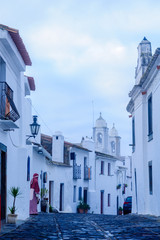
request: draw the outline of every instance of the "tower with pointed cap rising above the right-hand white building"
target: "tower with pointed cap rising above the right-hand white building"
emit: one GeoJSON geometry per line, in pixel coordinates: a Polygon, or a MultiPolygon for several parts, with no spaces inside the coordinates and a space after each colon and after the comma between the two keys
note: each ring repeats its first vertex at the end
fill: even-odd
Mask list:
{"type": "Polygon", "coordinates": [[[135,71],[135,79],[136,84],[139,84],[139,81],[143,74],[145,73],[148,64],[152,58],[152,50],[151,50],[151,43],[146,39],[143,40],[138,45],[138,60],[137,60],[137,67],[135,71]]]}

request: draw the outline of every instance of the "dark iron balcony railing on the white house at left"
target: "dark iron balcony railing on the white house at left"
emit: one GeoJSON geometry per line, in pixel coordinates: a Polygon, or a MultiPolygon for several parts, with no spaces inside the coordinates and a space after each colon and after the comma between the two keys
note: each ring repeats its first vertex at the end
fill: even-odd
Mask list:
{"type": "Polygon", "coordinates": [[[0,119],[17,121],[20,115],[13,102],[13,90],[6,82],[0,82],[0,119]]]}

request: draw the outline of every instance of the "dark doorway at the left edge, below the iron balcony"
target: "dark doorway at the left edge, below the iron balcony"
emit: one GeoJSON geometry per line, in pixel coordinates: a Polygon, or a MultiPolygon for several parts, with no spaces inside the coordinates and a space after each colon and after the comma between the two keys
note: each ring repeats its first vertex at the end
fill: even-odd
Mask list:
{"type": "Polygon", "coordinates": [[[0,143],[0,220],[6,219],[7,147],[0,143]]]}

